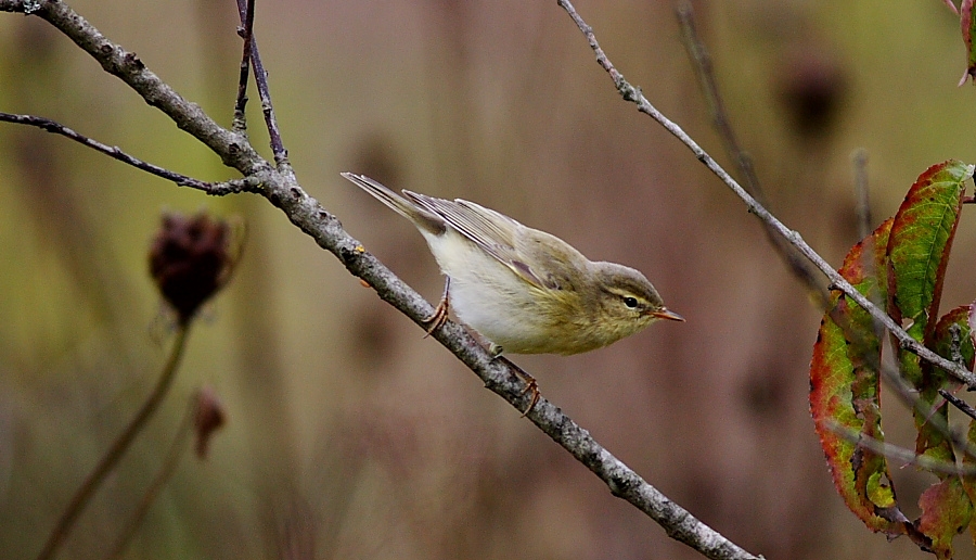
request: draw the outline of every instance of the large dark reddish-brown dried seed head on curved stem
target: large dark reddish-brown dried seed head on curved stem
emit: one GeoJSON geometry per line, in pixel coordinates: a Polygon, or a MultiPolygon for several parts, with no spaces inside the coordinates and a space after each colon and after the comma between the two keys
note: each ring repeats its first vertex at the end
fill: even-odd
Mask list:
{"type": "Polygon", "coordinates": [[[220,290],[236,263],[231,226],[205,213],[163,215],[150,249],[150,275],[163,297],[187,324],[200,306],[220,290]]]}

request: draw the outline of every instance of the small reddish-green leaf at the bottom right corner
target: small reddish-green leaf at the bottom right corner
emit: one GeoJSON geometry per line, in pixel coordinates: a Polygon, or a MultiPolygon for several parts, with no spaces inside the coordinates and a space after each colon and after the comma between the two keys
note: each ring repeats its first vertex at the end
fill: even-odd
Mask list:
{"type": "Polygon", "coordinates": [[[930,539],[929,546],[941,560],[952,558],[952,538],[969,525],[973,504],[959,478],[952,476],[933,484],[919,498],[922,517],[915,523],[930,539]]]}

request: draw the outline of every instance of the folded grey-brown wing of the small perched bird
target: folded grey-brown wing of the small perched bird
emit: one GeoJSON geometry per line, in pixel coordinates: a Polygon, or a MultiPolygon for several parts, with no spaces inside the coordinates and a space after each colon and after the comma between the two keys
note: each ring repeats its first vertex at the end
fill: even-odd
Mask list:
{"type": "Polygon", "coordinates": [[[512,269],[526,282],[537,288],[545,285],[532,267],[519,258],[515,250],[515,236],[525,227],[522,224],[491,208],[461,199],[448,201],[412,191],[403,191],[403,194],[444,218],[459,233],[512,269]]]}

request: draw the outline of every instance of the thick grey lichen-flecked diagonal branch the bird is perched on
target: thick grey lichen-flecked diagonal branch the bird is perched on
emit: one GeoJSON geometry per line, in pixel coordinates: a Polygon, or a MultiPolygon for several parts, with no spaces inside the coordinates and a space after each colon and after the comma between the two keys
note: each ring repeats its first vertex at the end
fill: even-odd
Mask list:
{"type": "MultiPolygon", "coordinates": [[[[49,22],[94,58],[107,73],[125,81],[147,104],[203,142],[227,166],[237,169],[246,179],[245,191],[268,199],[316,243],[333,253],[354,276],[368,282],[381,298],[421,326],[433,313],[429,303],[368,253],[334,215],[301,189],[287,166],[275,168],[264,160],[243,132],[217,125],[198,105],[184,100],[149,71],[134,53],[110,41],[66,3],[0,0],[0,11],[25,13],[49,22]]],[[[270,104],[270,100],[268,102],[270,104]]],[[[526,408],[530,397],[524,394],[521,378],[503,360],[492,359],[462,327],[448,321],[432,336],[474,371],[486,387],[516,409],[526,408]]],[[[668,499],[544,398],[539,399],[528,418],[603,480],[615,496],[648,514],[671,537],[711,559],[761,558],[737,547],[668,499]]]]}

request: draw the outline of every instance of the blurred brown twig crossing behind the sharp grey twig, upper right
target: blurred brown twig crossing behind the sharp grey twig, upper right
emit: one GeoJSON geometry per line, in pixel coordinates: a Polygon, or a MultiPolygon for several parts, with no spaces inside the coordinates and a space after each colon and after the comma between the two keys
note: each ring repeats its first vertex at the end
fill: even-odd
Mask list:
{"type": "MultiPolygon", "coordinates": [[[[715,67],[711,63],[711,55],[705,47],[705,42],[698,35],[695,24],[695,13],[690,2],[682,2],[678,7],[678,22],[684,35],[684,47],[692,60],[695,68],[695,75],[698,77],[698,84],[702,86],[702,92],[705,96],[705,102],[708,104],[711,122],[715,129],[722,140],[725,153],[729,158],[739,166],[745,183],[745,190],[752,194],[759,204],[767,206],[766,194],[759,183],[759,177],[756,175],[756,168],[753,165],[753,158],[739,142],[735,130],[732,128],[732,122],[729,119],[729,112],[725,110],[725,103],[721,92],[718,89],[718,82],[715,78],[715,67]]],[[[789,271],[793,272],[800,283],[807,287],[810,294],[817,300],[821,309],[826,309],[830,305],[830,294],[821,285],[817,269],[813,268],[809,260],[789,243],[780,237],[776,230],[768,222],[760,221],[762,229],[766,231],[766,238],[772,244],[773,249],[779,253],[780,257],[786,263],[789,271]]]]}

